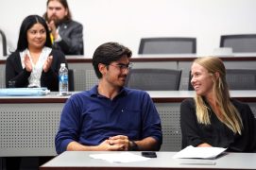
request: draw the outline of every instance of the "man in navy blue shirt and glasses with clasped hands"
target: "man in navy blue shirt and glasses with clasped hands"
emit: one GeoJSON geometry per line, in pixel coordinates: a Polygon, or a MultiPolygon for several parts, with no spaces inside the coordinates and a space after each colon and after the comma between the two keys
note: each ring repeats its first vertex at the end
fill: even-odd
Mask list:
{"type": "Polygon", "coordinates": [[[131,51],[107,42],[94,52],[98,85],[66,102],[56,135],[57,153],[65,150],[159,150],[161,120],[148,93],[124,87],[131,51]]]}

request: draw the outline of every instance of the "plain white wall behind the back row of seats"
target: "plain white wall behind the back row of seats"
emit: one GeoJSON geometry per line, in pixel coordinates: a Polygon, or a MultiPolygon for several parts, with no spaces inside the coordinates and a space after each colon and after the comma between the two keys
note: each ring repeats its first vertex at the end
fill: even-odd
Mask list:
{"type": "MultiPolygon", "coordinates": [[[[256,33],[255,0],[68,0],[84,26],[85,56],[103,42],[122,42],[138,53],[142,37],[196,37],[197,54],[219,46],[221,34],[256,33]]],[[[43,15],[46,0],[1,0],[0,28],[15,49],[29,14],[43,15]]],[[[2,40],[0,39],[0,43],[2,40]]],[[[0,48],[2,55],[2,48],[0,48]]]]}

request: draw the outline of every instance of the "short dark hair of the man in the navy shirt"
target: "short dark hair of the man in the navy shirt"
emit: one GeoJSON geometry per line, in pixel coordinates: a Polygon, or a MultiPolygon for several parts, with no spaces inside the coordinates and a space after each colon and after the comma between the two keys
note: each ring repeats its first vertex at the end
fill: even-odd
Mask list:
{"type": "Polygon", "coordinates": [[[97,47],[94,51],[93,65],[94,71],[98,78],[102,77],[99,72],[98,64],[102,63],[110,65],[111,62],[121,59],[124,56],[130,58],[132,55],[128,47],[119,44],[118,42],[106,42],[97,47]]]}

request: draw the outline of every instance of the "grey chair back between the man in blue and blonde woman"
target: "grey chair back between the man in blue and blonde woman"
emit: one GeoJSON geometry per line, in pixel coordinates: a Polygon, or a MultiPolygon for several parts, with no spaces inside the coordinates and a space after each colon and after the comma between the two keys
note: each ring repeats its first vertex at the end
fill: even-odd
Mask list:
{"type": "Polygon", "coordinates": [[[126,86],[144,91],[178,91],[181,70],[131,69],[126,86]]]}

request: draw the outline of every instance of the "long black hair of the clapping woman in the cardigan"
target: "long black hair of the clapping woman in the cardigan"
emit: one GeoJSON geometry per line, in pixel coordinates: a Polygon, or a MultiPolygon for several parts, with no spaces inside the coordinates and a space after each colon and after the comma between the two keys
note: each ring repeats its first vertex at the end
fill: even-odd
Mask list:
{"type": "Polygon", "coordinates": [[[17,51],[24,51],[28,47],[28,42],[27,42],[27,30],[30,29],[32,26],[35,24],[41,24],[46,31],[46,42],[44,46],[52,47],[52,42],[50,38],[50,32],[48,29],[47,24],[45,23],[43,17],[39,15],[28,15],[20,28],[20,34],[19,34],[19,40],[17,44],[17,51]]]}

